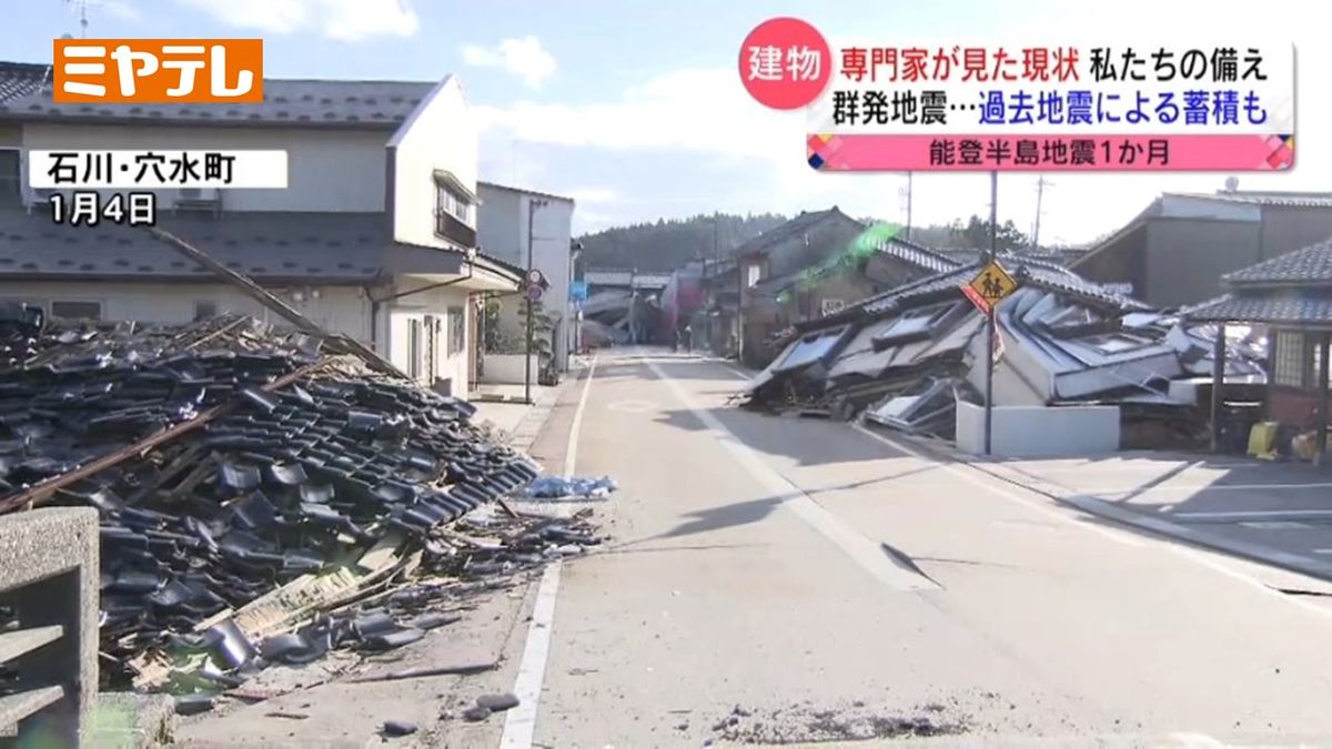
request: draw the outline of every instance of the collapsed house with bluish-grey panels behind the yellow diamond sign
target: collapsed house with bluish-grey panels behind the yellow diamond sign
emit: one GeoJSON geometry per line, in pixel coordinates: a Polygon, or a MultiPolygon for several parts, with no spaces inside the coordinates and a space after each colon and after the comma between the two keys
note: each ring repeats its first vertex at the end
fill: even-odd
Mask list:
{"type": "MultiPolygon", "coordinates": [[[[1150,309],[1055,263],[999,260],[1020,288],[995,309],[994,405],[1114,404],[1123,446],[1205,436],[1215,327],[1150,309]]],[[[863,413],[954,440],[958,404],[984,402],[986,317],[962,293],[982,268],[958,263],[797,324],[746,385],[747,404],[842,418],[863,413]]],[[[1227,394],[1243,400],[1265,381],[1265,341],[1247,329],[1228,335],[1227,394]]]]}

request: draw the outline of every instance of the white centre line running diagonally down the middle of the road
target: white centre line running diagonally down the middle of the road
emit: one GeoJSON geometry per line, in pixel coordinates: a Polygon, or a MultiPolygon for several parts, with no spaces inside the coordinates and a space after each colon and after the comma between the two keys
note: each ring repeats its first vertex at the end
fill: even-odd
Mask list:
{"type": "Polygon", "coordinates": [[[703,426],[713,433],[715,440],[735,456],[739,465],[763,484],[774,497],[781,500],[782,506],[794,512],[810,528],[822,533],[829,541],[832,541],[854,562],[878,578],[879,582],[898,590],[938,589],[938,585],[924,576],[896,564],[892,557],[884,553],[879,542],[856,533],[855,529],[847,526],[836,516],[823,509],[822,505],[811,500],[799,486],[767,465],[757,452],[733,434],[715,416],[699,408],[679,382],[671,380],[669,374],[651,361],[646,361],[646,364],[662,382],[666,382],[685,408],[703,422],[703,426]]]}

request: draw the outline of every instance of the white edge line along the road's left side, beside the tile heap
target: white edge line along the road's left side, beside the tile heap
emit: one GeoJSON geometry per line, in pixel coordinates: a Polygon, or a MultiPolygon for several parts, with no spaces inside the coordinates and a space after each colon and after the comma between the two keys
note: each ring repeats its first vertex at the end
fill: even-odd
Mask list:
{"type": "MultiPolygon", "coordinates": [[[[591,378],[597,373],[597,356],[593,355],[583,380],[583,392],[578,396],[578,408],[569,425],[569,446],[565,450],[565,478],[571,478],[578,461],[578,432],[582,429],[583,410],[587,408],[587,393],[591,378]]],[[[518,664],[518,678],[513,693],[518,706],[505,713],[503,734],[500,746],[505,749],[530,749],[537,730],[537,714],[542,684],[546,680],[546,661],[550,656],[550,633],[555,624],[555,597],[559,594],[559,572],[563,565],[555,560],[541,576],[537,586],[537,602],[531,609],[531,622],[527,625],[527,644],[522,649],[518,664]]]]}

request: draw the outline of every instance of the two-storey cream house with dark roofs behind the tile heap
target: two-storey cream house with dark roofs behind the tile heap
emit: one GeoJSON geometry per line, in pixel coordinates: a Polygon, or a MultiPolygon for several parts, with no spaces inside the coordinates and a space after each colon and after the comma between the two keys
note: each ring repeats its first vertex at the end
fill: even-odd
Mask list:
{"type": "Polygon", "coordinates": [[[157,225],[453,394],[476,308],[521,269],[478,255],[477,132],[457,79],[265,80],[257,105],[53,104],[0,63],[0,299],[52,316],[272,315],[143,229],[55,225],[31,149],[284,149],[286,189],[160,189],[157,225]],[[8,76],[8,80],[7,80],[8,76]]]}

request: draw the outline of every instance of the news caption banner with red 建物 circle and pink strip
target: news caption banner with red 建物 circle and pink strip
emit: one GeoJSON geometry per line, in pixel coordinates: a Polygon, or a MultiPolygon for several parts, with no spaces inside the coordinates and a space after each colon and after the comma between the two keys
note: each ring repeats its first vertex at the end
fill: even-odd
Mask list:
{"type": "Polygon", "coordinates": [[[830,45],[798,19],[741,47],[746,91],[805,108],[806,159],[838,171],[1284,171],[1288,43],[830,45]]]}

